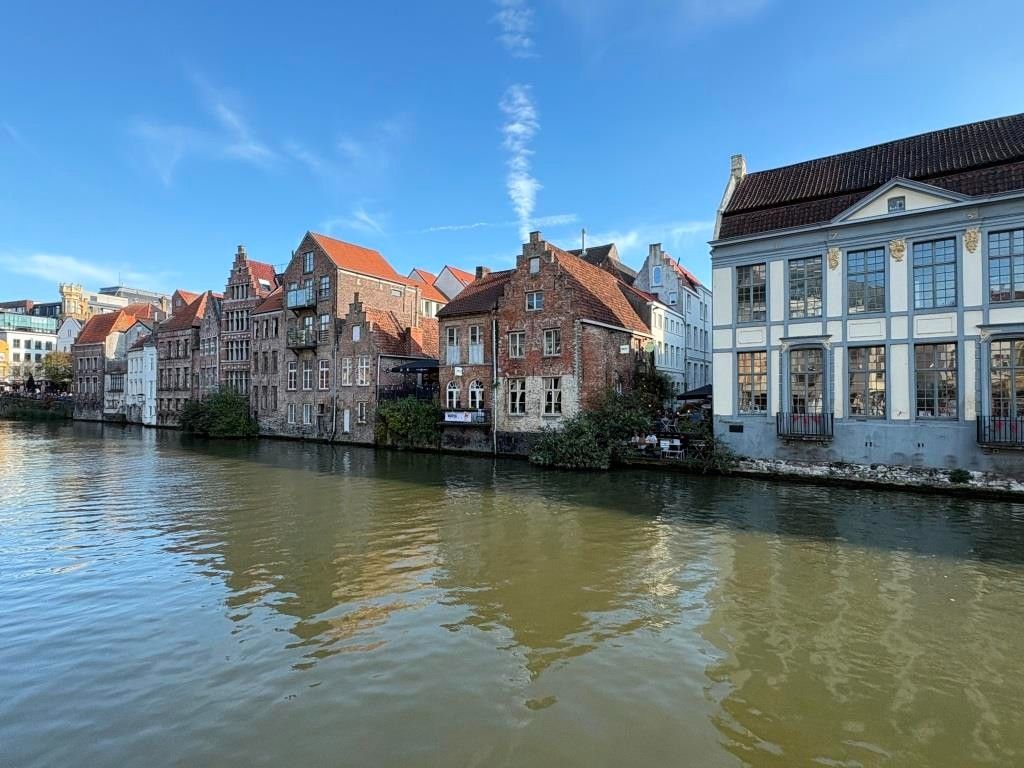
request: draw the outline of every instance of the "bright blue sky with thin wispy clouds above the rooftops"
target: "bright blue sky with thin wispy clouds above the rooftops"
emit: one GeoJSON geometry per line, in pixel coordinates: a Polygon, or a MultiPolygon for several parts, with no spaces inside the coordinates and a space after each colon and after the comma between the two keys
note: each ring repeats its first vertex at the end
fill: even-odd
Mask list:
{"type": "Polygon", "coordinates": [[[400,271],[520,233],[662,242],[709,278],[751,170],[1024,111],[1024,3],[17,3],[0,29],[0,297],[222,289],[307,229],[400,271]]]}

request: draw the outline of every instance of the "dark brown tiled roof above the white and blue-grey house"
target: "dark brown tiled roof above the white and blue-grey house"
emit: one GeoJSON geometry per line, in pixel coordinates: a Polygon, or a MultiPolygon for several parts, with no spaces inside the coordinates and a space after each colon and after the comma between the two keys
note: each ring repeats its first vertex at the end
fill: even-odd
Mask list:
{"type": "Polygon", "coordinates": [[[894,178],[971,196],[1024,189],[1024,113],[748,174],[719,237],[829,221],[894,178]]]}

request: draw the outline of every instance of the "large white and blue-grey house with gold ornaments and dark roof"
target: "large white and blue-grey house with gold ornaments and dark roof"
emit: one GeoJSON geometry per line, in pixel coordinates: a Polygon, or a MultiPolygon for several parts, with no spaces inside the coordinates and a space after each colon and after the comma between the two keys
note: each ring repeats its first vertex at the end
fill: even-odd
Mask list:
{"type": "Polygon", "coordinates": [[[735,156],[712,247],[730,447],[1021,474],[1024,115],[754,173],[735,156]]]}

